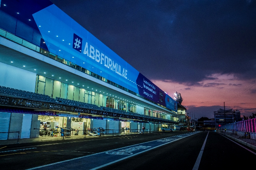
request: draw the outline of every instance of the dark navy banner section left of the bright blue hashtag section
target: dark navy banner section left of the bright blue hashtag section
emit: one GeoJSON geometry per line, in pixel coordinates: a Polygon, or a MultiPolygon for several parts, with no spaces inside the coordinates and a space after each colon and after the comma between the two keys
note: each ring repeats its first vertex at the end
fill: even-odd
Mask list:
{"type": "Polygon", "coordinates": [[[49,0],[1,0],[0,28],[42,47],[40,41],[43,37],[32,14],[51,4],[49,0]]]}

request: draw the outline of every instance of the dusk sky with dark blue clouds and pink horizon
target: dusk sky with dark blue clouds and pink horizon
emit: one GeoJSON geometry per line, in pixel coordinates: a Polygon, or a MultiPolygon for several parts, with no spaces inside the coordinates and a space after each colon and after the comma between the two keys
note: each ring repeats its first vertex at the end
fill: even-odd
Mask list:
{"type": "Polygon", "coordinates": [[[51,0],[193,118],[256,112],[256,0],[51,0]]]}

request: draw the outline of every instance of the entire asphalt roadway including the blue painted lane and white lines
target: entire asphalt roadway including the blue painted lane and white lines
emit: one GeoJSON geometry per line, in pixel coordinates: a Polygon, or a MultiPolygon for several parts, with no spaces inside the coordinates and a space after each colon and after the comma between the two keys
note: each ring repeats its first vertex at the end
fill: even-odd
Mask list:
{"type": "Polygon", "coordinates": [[[199,168],[194,170],[205,170],[237,169],[256,159],[255,150],[252,151],[220,133],[189,133],[191,132],[158,132],[6,145],[0,147],[0,167],[15,170],[183,170],[194,169],[197,164],[199,168]],[[177,138],[179,139],[175,140],[177,138]],[[160,146],[147,151],[150,148],[148,143],[154,141],[160,146]],[[119,153],[127,152],[133,155],[125,156],[124,159],[116,157],[119,153]],[[109,153],[112,154],[110,158],[106,156],[109,153]]]}

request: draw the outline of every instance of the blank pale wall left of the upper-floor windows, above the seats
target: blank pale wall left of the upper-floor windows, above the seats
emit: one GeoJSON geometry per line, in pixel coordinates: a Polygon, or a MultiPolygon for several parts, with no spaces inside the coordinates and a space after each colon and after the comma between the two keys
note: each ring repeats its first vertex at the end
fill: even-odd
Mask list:
{"type": "Polygon", "coordinates": [[[0,62],[0,86],[35,92],[36,73],[0,62]]]}

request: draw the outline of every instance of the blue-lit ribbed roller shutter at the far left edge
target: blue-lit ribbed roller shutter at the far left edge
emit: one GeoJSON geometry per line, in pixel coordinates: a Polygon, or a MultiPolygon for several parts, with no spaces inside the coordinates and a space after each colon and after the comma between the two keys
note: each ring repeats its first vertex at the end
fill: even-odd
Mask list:
{"type": "MultiPolygon", "coordinates": [[[[0,112],[0,132],[8,132],[11,113],[0,112]]],[[[8,133],[0,133],[0,140],[6,140],[8,133]]]]}

